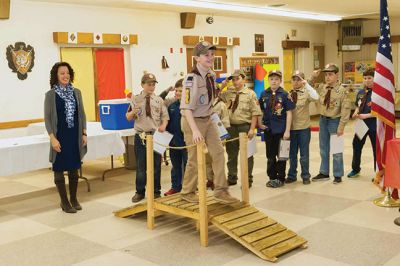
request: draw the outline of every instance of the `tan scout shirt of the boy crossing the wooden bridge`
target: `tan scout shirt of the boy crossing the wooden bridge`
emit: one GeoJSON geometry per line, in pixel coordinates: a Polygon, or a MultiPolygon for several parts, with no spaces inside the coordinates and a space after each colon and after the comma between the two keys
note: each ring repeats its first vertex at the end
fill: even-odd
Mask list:
{"type": "MultiPolygon", "coordinates": [[[[181,98],[181,110],[191,110],[195,118],[210,116],[213,113],[214,92],[211,93],[211,99],[209,99],[206,83],[207,75],[211,75],[214,80],[214,88],[217,87],[215,73],[212,70],[206,72],[200,68],[198,70],[200,75],[190,73],[185,77],[181,98]]],[[[184,115],[183,112],[182,115],[184,115]]]]}

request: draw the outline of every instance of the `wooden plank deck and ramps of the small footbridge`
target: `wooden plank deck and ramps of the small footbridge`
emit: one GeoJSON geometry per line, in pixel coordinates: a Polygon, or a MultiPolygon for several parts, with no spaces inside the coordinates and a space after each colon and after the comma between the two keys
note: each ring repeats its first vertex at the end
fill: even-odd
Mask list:
{"type": "MultiPolygon", "coordinates": [[[[180,194],[156,199],[154,204],[160,211],[193,219],[199,217],[199,205],[182,200],[180,194]]],[[[146,209],[146,203],[142,203],[114,214],[128,217],[146,209]]],[[[210,223],[264,260],[275,262],[282,254],[307,247],[307,240],[247,203],[226,205],[207,196],[207,210],[210,223]]]]}

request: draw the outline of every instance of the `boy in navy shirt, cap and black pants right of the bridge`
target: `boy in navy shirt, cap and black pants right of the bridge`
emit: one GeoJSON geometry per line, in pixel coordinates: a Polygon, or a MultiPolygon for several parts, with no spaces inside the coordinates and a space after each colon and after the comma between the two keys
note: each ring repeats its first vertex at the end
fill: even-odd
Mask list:
{"type": "Polygon", "coordinates": [[[288,98],[289,94],[280,86],[282,72],[273,70],[268,74],[270,87],[260,96],[260,107],[263,112],[261,129],[264,130],[267,174],[267,187],[278,188],[285,184],[286,161],[279,160],[281,139],[290,138],[292,110],[295,104],[288,98]]]}

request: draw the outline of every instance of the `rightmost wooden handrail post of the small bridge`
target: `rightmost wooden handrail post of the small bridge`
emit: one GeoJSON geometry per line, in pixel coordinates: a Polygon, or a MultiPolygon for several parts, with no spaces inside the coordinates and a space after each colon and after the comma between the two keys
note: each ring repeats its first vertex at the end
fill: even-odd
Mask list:
{"type": "Polygon", "coordinates": [[[247,156],[248,137],[246,133],[239,134],[240,176],[242,179],[242,201],[249,203],[249,163],[247,156]]]}

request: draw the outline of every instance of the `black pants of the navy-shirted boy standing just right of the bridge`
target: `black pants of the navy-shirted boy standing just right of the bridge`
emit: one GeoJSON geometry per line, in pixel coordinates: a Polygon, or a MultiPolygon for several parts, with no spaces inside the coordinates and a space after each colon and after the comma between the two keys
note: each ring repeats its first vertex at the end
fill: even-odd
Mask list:
{"type": "Polygon", "coordinates": [[[278,179],[285,181],[286,161],[279,161],[279,143],[283,133],[272,134],[269,130],[264,130],[265,150],[267,155],[267,175],[270,180],[278,179]]]}

